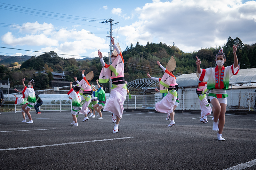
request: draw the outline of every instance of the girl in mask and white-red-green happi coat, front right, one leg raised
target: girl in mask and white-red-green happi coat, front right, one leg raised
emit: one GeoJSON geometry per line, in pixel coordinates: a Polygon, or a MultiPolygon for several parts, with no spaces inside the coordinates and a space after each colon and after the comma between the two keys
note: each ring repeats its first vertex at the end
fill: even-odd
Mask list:
{"type": "Polygon", "coordinates": [[[219,53],[216,55],[215,60],[217,66],[215,68],[201,69],[201,61],[196,57],[197,72],[199,79],[203,82],[207,82],[207,89],[209,92],[209,99],[214,107],[213,117],[214,122],[212,130],[218,132],[218,140],[224,141],[222,137],[222,131],[225,124],[225,113],[227,108],[227,89],[229,84],[229,78],[236,75],[239,71],[238,59],[236,56],[237,46],[233,45],[234,64],[228,67],[224,67],[223,64],[226,62],[225,54],[221,48],[219,53]],[[218,119],[219,124],[218,124],[218,119]]]}

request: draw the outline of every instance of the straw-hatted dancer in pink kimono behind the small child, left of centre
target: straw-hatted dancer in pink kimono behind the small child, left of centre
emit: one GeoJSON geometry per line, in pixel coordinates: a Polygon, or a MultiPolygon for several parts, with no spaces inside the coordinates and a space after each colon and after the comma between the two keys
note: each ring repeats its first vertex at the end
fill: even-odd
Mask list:
{"type": "Polygon", "coordinates": [[[81,87],[79,94],[82,96],[82,101],[84,104],[82,106],[82,109],[79,111],[79,113],[82,113],[84,115],[84,119],[82,122],[86,122],[88,118],[88,113],[90,110],[88,109],[89,104],[91,103],[92,100],[92,88],[90,85],[90,80],[93,78],[93,72],[91,71],[88,73],[86,76],[84,76],[84,70],[82,71],[82,76],[83,79],[79,82],[77,81],[77,78],[75,77],[75,81],[77,83],[77,86],[81,87]],[[87,80],[87,78],[88,80],[87,80]]]}

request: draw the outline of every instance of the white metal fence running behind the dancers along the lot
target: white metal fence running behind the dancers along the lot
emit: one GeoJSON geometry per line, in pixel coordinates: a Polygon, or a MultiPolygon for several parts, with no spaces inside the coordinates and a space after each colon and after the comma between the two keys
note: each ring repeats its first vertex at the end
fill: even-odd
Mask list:
{"type": "MultiPolygon", "coordinates": [[[[179,94],[180,104],[176,110],[200,110],[198,97],[196,94],[179,94]]],[[[254,111],[256,109],[255,92],[232,92],[228,93],[227,110],[240,110],[240,111],[254,111]]],[[[107,96],[108,100],[109,96],[107,96]]],[[[155,104],[162,100],[160,93],[155,95],[132,95],[129,99],[128,95],[124,102],[124,109],[155,109],[155,104]]],[[[208,98],[208,96],[207,96],[208,98]]],[[[54,98],[42,98],[43,105],[40,106],[40,111],[63,111],[71,109],[71,100],[62,98],[54,100],[54,98]]],[[[1,109],[15,109],[21,110],[21,105],[6,105],[4,104],[1,109]]],[[[31,111],[35,109],[32,108],[31,111]]]]}

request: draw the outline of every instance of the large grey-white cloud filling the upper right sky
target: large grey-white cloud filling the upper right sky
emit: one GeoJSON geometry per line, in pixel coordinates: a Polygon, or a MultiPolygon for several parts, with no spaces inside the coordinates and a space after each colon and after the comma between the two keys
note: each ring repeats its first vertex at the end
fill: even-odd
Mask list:
{"type": "MultiPolygon", "coordinates": [[[[185,52],[222,46],[229,36],[243,42],[256,39],[256,2],[241,0],[154,0],[136,8],[138,20],[120,27],[125,43],[173,42],[185,52]]],[[[120,14],[121,15],[121,14],[120,14]]]]}

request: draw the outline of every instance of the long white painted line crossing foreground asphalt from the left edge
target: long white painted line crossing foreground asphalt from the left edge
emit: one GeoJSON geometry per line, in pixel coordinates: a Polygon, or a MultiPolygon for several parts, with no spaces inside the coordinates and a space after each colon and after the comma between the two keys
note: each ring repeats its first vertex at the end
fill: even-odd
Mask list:
{"type": "Polygon", "coordinates": [[[47,145],[41,145],[41,146],[7,148],[7,149],[0,149],[0,151],[9,151],[9,150],[18,150],[18,149],[31,149],[31,148],[42,148],[42,147],[60,146],[60,145],[66,145],[66,144],[84,144],[84,143],[89,143],[89,142],[101,142],[101,141],[128,139],[128,138],[134,138],[134,137],[119,137],[119,138],[113,138],[113,139],[100,139],[100,140],[91,140],[91,141],[84,141],[84,142],[70,142],[70,143],[63,143],[63,144],[47,144],[47,145]]]}

